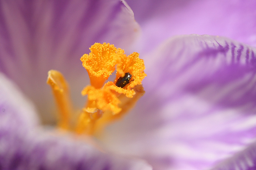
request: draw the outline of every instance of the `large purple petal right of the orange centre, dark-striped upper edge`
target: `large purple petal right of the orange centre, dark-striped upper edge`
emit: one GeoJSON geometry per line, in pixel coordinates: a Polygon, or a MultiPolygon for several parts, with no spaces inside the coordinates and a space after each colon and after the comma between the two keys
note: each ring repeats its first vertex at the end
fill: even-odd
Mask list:
{"type": "Polygon", "coordinates": [[[255,149],[246,159],[243,151],[256,141],[256,48],[193,34],[169,39],[148,58],[145,95],[102,142],[155,169],[255,166],[255,149]]]}

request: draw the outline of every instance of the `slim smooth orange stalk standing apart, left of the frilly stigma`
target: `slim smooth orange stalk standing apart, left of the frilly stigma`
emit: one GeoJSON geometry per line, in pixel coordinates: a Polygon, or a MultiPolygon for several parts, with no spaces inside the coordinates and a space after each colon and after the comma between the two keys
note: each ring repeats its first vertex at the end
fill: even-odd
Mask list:
{"type": "Polygon", "coordinates": [[[48,71],[47,84],[52,87],[52,92],[59,109],[59,127],[68,129],[71,114],[68,84],[63,75],[56,70],[48,71]]]}

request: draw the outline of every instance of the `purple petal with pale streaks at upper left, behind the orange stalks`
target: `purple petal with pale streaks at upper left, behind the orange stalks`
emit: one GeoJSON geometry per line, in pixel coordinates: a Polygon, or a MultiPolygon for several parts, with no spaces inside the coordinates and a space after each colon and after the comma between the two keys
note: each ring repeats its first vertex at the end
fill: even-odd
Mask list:
{"type": "Polygon", "coordinates": [[[80,57],[95,42],[128,47],[140,33],[130,7],[120,0],[3,1],[0,3],[0,71],[36,104],[43,122],[55,107],[45,83],[48,70],[63,73],[76,107],[89,78],[80,57]]]}

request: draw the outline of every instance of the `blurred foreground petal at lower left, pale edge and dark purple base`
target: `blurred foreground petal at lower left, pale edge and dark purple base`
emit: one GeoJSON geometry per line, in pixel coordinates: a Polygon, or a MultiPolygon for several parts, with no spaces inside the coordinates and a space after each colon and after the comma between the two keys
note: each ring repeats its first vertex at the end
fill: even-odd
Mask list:
{"type": "Polygon", "coordinates": [[[100,152],[82,137],[40,129],[33,105],[2,73],[0,80],[0,169],[152,169],[141,159],[100,152]]]}

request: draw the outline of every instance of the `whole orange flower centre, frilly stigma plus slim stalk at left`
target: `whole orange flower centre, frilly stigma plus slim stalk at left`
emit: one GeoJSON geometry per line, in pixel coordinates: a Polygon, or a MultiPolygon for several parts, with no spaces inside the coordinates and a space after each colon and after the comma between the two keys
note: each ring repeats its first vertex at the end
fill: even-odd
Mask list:
{"type": "Polygon", "coordinates": [[[47,83],[52,88],[59,110],[58,127],[77,134],[97,136],[106,125],[122,118],[136,104],[145,93],[141,82],[147,75],[139,53],[133,52],[127,56],[123,49],[109,43],[95,43],[90,50],[89,54],[80,58],[88,72],[90,85],[81,92],[83,96],[87,95],[87,102],[76,123],[71,123],[75,111],[64,76],[57,70],[50,70],[47,83]],[[105,83],[115,70],[115,80],[105,83]],[[127,75],[128,78],[125,77],[127,75]],[[117,80],[123,85],[117,86],[117,80]]]}

